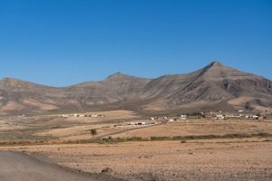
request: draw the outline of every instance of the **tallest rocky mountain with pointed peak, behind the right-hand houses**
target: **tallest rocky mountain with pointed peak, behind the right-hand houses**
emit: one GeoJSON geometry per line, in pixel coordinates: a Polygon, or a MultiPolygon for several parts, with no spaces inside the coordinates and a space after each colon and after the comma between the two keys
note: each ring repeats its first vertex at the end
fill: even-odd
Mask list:
{"type": "MultiPolygon", "coordinates": [[[[151,106],[165,108],[202,108],[223,105],[228,109],[254,110],[272,106],[272,82],[247,72],[212,62],[199,71],[166,75],[151,81],[141,95],[154,97],[151,106]],[[163,100],[163,101],[161,101],[163,100]],[[160,103],[162,102],[162,103],[160,103]]],[[[201,110],[201,109],[199,109],[201,110]]],[[[205,110],[205,109],[204,109],[205,110]]],[[[214,110],[214,109],[213,109],[214,110]]]]}

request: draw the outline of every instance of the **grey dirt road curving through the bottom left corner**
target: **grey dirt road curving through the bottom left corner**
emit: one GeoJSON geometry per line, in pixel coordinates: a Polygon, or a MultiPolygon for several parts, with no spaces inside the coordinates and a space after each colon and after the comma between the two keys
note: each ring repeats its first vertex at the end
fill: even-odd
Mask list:
{"type": "Polygon", "coordinates": [[[0,151],[1,181],[96,181],[107,179],[106,177],[66,170],[24,153],[0,151]]]}

